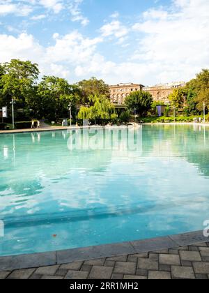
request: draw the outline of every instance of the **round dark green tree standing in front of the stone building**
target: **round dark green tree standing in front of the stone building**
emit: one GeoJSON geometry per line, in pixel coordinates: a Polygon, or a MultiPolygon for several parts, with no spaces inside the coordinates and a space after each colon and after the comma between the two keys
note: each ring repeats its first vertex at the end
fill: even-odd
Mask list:
{"type": "Polygon", "coordinates": [[[150,110],[153,103],[153,97],[145,91],[134,91],[130,96],[125,98],[125,105],[131,111],[137,110],[137,113],[142,117],[150,110]]]}

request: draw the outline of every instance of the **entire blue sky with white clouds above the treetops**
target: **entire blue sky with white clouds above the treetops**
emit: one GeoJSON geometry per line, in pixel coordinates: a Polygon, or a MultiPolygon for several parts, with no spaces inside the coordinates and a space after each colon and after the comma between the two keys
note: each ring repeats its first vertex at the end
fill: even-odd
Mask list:
{"type": "Polygon", "coordinates": [[[0,62],[109,84],[189,80],[209,66],[208,0],[0,0],[0,62]]]}

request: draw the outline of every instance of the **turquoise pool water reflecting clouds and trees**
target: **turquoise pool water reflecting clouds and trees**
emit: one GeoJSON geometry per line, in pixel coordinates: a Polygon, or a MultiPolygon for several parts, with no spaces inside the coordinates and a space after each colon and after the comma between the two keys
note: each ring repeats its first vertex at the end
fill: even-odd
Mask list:
{"type": "Polygon", "coordinates": [[[203,229],[209,128],[0,135],[0,255],[203,229]]]}

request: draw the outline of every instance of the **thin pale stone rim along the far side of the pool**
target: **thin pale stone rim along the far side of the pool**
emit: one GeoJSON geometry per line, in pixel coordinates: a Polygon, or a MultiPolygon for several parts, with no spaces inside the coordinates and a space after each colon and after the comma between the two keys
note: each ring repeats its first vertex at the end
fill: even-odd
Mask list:
{"type": "MultiPolygon", "coordinates": [[[[192,123],[192,122],[172,122],[172,123],[143,123],[140,125],[190,125],[190,126],[209,126],[209,123],[192,123]]],[[[111,128],[111,126],[108,126],[111,128]]],[[[112,126],[121,127],[121,126],[112,126]]],[[[104,126],[56,126],[56,127],[47,127],[47,128],[38,128],[38,129],[15,129],[15,130],[0,130],[0,135],[3,134],[15,134],[15,133],[40,133],[45,131],[58,131],[58,130],[77,130],[77,129],[85,129],[85,128],[104,128],[104,126]]]]}

